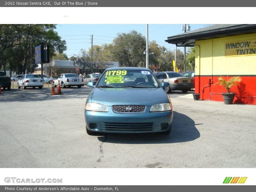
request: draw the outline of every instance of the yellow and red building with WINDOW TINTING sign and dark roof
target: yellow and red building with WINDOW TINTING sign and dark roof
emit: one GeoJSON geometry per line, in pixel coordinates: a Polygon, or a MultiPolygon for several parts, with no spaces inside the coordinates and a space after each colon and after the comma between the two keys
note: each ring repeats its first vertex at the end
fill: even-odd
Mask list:
{"type": "Polygon", "coordinates": [[[195,93],[200,99],[223,101],[218,82],[240,76],[230,91],[234,103],[256,105],[256,24],[218,24],[167,37],[178,47],[195,47],[195,93]]]}

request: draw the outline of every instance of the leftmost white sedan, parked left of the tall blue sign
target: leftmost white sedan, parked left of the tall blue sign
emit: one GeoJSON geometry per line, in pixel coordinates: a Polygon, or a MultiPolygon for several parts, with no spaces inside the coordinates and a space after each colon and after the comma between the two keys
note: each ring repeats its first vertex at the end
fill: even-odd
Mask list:
{"type": "Polygon", "coordinates": [[[18,88],[23,87],[26,89],[27,87],[38,87],[42,89],[43,87],[43,80],[36,74],[26,74],[22,75],[18,81],[18,88]]]}

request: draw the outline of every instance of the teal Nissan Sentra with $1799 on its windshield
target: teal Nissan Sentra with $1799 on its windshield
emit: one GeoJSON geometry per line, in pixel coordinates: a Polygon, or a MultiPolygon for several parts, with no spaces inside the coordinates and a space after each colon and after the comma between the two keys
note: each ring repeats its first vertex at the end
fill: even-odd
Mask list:
{"type": "Polygon", "coordinates": [[[172,103],[164,87],[148,68],[108,68],[85,103],[86,132],[169,134],[172,103]]]}

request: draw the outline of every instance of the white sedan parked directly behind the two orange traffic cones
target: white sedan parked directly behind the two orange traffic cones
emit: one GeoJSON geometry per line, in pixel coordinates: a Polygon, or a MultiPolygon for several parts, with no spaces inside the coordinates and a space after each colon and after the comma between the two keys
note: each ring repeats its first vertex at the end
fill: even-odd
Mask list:
{"type": "Polygon", "coordinates": [[[84,79],[74,73],[60,74],[56,79],[53,80],[55,87],[58,86],[59,81],[62,88],[65,88],[66,86],[77,86],[78,88],[81,88],[81,86],[84,86],[84,79]]]}

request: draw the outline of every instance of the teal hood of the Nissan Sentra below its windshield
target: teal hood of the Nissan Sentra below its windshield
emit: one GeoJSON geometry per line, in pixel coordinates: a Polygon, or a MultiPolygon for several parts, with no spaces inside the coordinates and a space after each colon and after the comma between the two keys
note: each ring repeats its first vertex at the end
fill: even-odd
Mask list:
{"type": "Polygon", "coordinates": [[[163,88],[94,88],[88,101],[112,105],[146,105],[169,102],[163,88]]]}

